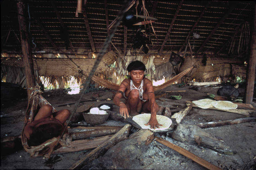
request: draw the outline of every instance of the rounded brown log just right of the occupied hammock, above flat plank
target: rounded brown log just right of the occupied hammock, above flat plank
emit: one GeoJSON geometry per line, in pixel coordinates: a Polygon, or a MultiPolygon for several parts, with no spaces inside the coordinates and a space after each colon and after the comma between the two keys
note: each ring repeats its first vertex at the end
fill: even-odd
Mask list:
{"type": "Polygon", "coordinates": [[[89,138],[95,136],[105,136],[105,135],[112,135],[117,133],[122,128],[110,128],[110,129],[98,129],[98,130],[89,130],[84,132],[75,132],[70,133],[72,139],[82,139],[82,138],[89,138]]]}

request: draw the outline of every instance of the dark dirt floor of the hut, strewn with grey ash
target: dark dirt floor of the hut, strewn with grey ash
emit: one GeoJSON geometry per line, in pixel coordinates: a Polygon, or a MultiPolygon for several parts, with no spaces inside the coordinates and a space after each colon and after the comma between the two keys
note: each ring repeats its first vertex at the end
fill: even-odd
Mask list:
{"type": "MultiPolygon", "coordinates": [[[[163,94],[166,91],[176,91],[176,90],[186,90],[186,92],[167,92],[165,98],[166,101],[156,100],[160,106],[168,106],[171,108],[172,113],[179,110],[183,110],[186,107],[186,101],[200,100],[203,98],[208,98],[207,93],[215,94],[218,88],[216,86],[201,87],[200,91],[190,89],[190,86],[178,87],[177,85],[172,85],[161,91],[156,92],[156,95],[163,94]],[[182,96],[181,100],[170,99],[171,95],[182,96]]],[[[244,88],[239,87],[239,94],[243,96],[244,88]]],[[[97,91],[100,96],[111,93],[108,91],[97,91]]],[[[67,108],[73,110],[74,105],[60,106],[61,104],[75,103],[80,95],[69,95],[66,90],[56,89],[49,90],[43,93],[43,97],[50,102],[53,107],[57,110],[67,108]]],[[[86,93],[84,99],[92,99],[92,92],[86,93]]],[[[19,99],[3,102],[1,101],[1,139],[20,135],[24,126],[24,115],[27,107],[27,99],[19,99]]],[[[93,101],[84,102],[84,104],[94,104],[98,106],[101,103],[113,103],[111,101],[93,101]]],[[[256,108],[255,101],[252,105],[256,108]]],[[[114,111],[118,111],[119,107],[114,106],[114,111]]],[[[254,112],[251,116],[256,117],[254,112]]],[[[229,113],[225,111],[192,108],[182,121],[182,124],[196,124],[209,121],[222,121],[231,120],[237,118],[243,118],[244,115],[239,115],[236,113],[229,113]]],[[[85,121],[79,121],[80,124],[85,123],[85,121]]],[[[113,121],[108,120],[107,122],[113,123],[113,121]]],[[[122,124],[122,122],[118,122],[122,124]]],[[[205,159],[206,161],[219,166],[223,169],[256,169],[256,122],[240,123],[235,125],[225,125],[213,128],[204,129],[218,139],[222,139],[232,151],[236,151],[237,154],[225,155],[213,151],[206,147],[198,146],[197,144],[184,144],[179,141],[174,140],[166,136],[166,134],[156,134],[156,136],[162,137],[165,140],[174,143],[189,152],[205,159]]],[[[51,158],[37,157],[31,158],[24,149],[19,149],[12,154],[3,155],[1,153],[1,169],[68,169],[72,164],[76,163],[79,159],[85,157],[91,150],[81,151],[76,153],[66,153],[66,154],[52,154],[51,158]]],[[[130,164],[128,169],[206,169],[200,166],[196,162],[189,158],[179,154],[178,152],[164,146],[163,144],[153,141],[149,144],[148,149],[139,156],[140,161],[125,164],[130,164]]],[[[85,166],[87,169],[101,169],[97,166],[85,166]]],[[[112,169],[111,167],[105,167],[105,169],[112,169]]]]}

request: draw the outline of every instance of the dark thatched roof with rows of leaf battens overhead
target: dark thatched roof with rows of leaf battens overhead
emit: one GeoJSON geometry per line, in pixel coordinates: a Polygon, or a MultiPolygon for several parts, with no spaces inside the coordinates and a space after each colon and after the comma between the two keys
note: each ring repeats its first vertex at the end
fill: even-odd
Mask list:
{"type": "MultiPolygon", "coordinates": [[[[122,3],[123,1],[88,0],[85,11],[75,17],[77,0],[29,0],[29,29],[36,44],[35,51],[54,50],[55,45],[60,49],[65,48],[66,38],[71,42],[70,47],[73,46],[70,52],[76,51],[77,48],[82,48],[86,52],[99,51],[108,36],[107,25],[118,16],[122,3]],[[46,37],[46,32],[52,42],[46,37]]],[[[147,44],[149,54],[184,51],[190,31],[192,31],[190,45],[194,53],[207,51],[214,54],[223,47],[221,53],[228,54],[232,36],[236,34],[237,39],[240,36],[236,33],[236,28],[241,23],[251,21],[253,3],[253,1],[145,1],[149,15],[158,19],[152,23],[156,36],[152,35],[154,32],[150,26],[152,42],[147,44]],[[193,27],[196,22],[198,24],[193,27]],[[193,32],[199,34],[200,38],[193,38],[193,32]]],[[[141,5],[142,1],[139,1],[138,14],[141,5]]],[[[16,1],[1,1],[1,8],[2,52],[21,52],[16,1]]],[[[136,3],[129,11],[136,14],[136,3]]],[[[144,15],[143,12],[141,15],[144,15]]],[[[131,49],[132,31],[128,27],[126,33],[126,27],[122,22],[118,26],[112,43],[120,53],[123,53],[124,49],[126,52],[131,49]]],[[[115,50],[113,45],[111,49],[115,50]]]]}

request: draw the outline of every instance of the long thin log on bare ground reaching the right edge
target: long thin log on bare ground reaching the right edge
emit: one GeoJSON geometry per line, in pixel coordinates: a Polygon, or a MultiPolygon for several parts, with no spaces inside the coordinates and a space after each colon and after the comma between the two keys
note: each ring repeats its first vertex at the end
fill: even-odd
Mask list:
{"type": "Polygon", "coordinates": [[[219,122],[211,121],[211,122],[207,122],[207,123],[198,123],[195,125],[200,128],[209,128],[209,127],[216,127],[216,126],[233,125],[233,124],[237,124],[237,123],[250,122],[250,121],[256,121],[256,118],[255,117],[247,117],[247,118],[225,120],[225,121],[219,121],[219,122]]]}

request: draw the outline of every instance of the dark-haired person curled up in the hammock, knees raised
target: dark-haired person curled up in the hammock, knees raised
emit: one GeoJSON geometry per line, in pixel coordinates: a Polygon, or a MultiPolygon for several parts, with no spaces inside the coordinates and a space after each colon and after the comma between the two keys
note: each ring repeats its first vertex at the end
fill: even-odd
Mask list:
{"type": "Polygon", "coordinates": [[[64,109],[53,113],[52,109],[51,105],[43,105],[34,121],[24,127],[29,146],[38,146],[53,137],[58,137],[63,132],[63,123],[69,117],[70,111],[64,109]]]}

